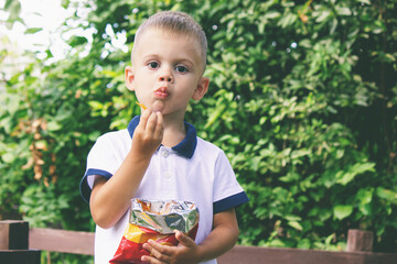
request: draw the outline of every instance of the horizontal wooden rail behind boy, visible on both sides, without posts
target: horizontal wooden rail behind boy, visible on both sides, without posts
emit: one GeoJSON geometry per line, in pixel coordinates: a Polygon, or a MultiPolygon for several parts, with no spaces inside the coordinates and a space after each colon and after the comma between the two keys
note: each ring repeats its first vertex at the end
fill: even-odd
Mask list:
{"type": "MultiPolygon", "coordinates": [[[[94,233],[31,229],[30,248],[94,255],[94,233]]],[[[236,245],[218,264],[397,264],[397,254],[236,245]]]]}

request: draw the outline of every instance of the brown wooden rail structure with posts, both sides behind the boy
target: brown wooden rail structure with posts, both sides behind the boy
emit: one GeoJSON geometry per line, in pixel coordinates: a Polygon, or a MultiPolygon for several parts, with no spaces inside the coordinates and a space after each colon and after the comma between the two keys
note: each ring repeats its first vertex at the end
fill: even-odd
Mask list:
{"type": "MultiPolygon", "coordinates": [[[[397,254],[372,250],[372,232],[350,230],[344,252],[236,245],[218,264],[397,264],[397,254]]],[[[94,255],[94,233],[0,221],[0,263],[40,264],[41,251],[94,255]]]]}

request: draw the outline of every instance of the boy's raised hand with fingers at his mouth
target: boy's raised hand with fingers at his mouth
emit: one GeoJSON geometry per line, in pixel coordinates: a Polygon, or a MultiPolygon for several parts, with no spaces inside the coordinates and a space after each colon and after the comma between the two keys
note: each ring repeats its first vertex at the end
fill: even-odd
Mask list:
{"type": "Polygon", "coordinates": [[[150,109],[143,111],[132,136],[131,151],[135,155],[151,157],[163,139],[163,118],[160,112],[150,109]]]}

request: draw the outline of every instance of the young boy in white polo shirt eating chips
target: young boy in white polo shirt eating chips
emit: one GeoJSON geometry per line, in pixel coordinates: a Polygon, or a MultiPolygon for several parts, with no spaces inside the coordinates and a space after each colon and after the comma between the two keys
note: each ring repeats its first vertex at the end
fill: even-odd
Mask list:
{"type": "Polygon", "coordinates": [[[81,191],[97,224],[95,263],[109,263],[128,224],[130,200],[186,200],[197,205],[195,241],[176,232],[178,246],[149,241],[146,263],[216,263],[238,237],[235,210],[248,200],[226,155],[184,122],[190,99],[208,89],[203,77],[206,37],[187,14],[160,12],[136,34],[126,85],[147,106],[126,130],[98,138],[81,191]]]}

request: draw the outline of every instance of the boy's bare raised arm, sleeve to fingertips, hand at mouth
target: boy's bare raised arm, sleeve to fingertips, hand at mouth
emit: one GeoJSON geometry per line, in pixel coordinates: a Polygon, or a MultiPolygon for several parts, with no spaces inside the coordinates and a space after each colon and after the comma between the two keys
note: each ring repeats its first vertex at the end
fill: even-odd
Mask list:
{"type": "Polygon", "coordinates": [[[119,169],[109,180],[100,177],[94,183],[89,206],[93,219],[99,227],[112,227],[127,211],[162,136],[161,113],[146,110],[119,169]]]}

